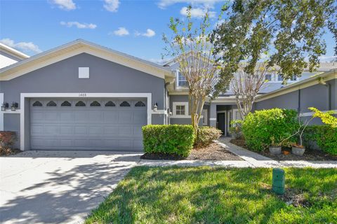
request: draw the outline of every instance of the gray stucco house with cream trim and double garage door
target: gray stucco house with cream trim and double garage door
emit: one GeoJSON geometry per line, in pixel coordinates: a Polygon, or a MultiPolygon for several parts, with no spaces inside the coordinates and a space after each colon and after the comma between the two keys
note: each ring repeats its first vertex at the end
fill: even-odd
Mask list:
{"type": "MultiPolygon", "coordinates": [[[[23,151],[142,151],[143,125],[190,123],[186,81],[174,60],[161,66],[84,40],[17,59],[0,69],[0,104],[18,103],[0,112],[0,130],[18,132],[23,151]]],[[[322,69],[286,86],[270,73],[254,110],[336,110],[336,63],[322,69]]],[[[206,102],[200,125],[227,134],[233,119],[239,113],[229,91],[206,102]]]]}

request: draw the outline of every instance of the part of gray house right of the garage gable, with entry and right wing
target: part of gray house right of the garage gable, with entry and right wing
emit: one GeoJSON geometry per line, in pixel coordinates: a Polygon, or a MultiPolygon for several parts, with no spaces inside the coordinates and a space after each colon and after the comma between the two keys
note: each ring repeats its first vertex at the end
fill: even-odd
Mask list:
{"type": "MultiPolygon", "coordinates": [[[[179,72],[179,63],[174,59],[164,64],[176,75],[176,82],[168,86],[170,109],[173,111],[171,124],[190,123],[188,111],[182,116],[176,109],[188,108],[188,88],[185,77],[179,72]]],[[[308,107],[314,106],[322,111],[335,110],[337,113],[337,62],[322,62],[317,71],[310,73],[305,69],[300,77],[294,76],[283,83],[282,76],[275,71],[267,72],[266,83],[261,87],[260,95],[253,104],[253,111],[260,109],[295,109],[304,119],[312,113],[308,107]]],[[[212,102],[204,105],[202,125],[218,127],[224,134],[229,134],[231,120],[242,119],[235,97],[231,90],[220,94],[212,102]]],[[[319,119],[312,124],[319,124],[319,119]]],[[[199,125],[201,125],[199,124],[199,125]]]]}

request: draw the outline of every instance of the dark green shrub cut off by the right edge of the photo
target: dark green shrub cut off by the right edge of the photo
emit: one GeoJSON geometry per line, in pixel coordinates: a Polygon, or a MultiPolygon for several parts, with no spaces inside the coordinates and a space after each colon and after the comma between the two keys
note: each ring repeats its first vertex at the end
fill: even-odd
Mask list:
{"type": "Polygon", "coordinates": [[[312,125],[305,129],[303,139],[308,146],[315,141],[319,148],[331,155],[337,155],[337,127],[331,125],[312,125]]]}

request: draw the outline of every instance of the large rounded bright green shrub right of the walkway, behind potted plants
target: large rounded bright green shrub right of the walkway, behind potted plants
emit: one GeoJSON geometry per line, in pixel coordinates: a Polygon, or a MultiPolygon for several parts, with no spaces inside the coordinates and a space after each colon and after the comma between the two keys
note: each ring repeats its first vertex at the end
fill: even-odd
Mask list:
{"type": "MultiPolygon", "coordinates": [[[[272,144],[280,143],[298,128],[297,112],[287,109],[270,109],[249,113],[244,118],[242,133],[246,145],[253,151],[263,151],[272,144]]],[[[296,137],[289,139],[296,141],[296,137]]],[[[289,141],[287,141],[289,143],[289,141]]],[[[284,143],[286,144],[286,143],[284,143]]]]}

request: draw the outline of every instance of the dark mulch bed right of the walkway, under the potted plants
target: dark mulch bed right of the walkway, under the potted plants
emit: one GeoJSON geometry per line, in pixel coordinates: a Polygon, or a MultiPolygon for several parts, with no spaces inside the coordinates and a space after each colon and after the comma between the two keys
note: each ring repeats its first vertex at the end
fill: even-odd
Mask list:
{"type": "MultiPolygon", "coordinates": [[[[231,139],[230,143],[249,150],[249,148],[247,148],[244,142],[244,139],[231,139]]],[[[262,151],[262,152],[255,152],[255,153],[258,153],[260,155],[264,155],[266,157],[272,158],[273,160],[279,160],[279,161],[283,161],[283,160],[307,160],[307,161],[337,160],[336,155],[329,155],[325,153],[324,151],[314,150],[310,148],[305,149],[305,153],[303,156],[293,155],[291,153],[291,148],[282,148],[281,155],[272,155],[270,154],[269,151],[262,151]],[[284,151],[288,151],[289,154],[284,155],[284,151]]]]}

